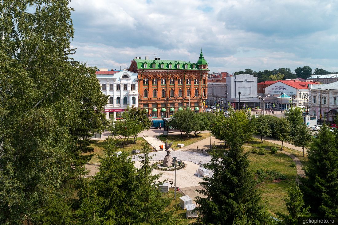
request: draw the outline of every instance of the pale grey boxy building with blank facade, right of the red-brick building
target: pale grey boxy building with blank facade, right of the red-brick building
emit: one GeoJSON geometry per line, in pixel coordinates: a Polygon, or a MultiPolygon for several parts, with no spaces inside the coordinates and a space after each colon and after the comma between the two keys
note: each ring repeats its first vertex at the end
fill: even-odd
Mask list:
{"type": "Polygon", "coordinates": [[[257,98],[257,77],[254,75],[229,76],[226,77],[226,84],[227,107],[246,109],[260,106],[260,100],[257,98]]]}

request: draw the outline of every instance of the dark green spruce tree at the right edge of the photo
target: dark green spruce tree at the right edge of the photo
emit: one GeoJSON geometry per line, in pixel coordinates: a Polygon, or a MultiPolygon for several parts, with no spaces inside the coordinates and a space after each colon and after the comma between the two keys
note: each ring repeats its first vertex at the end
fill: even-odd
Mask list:
{"type": "Polygon", "coordinates": [[[301,189],[310,212],[320,217],[338,217],[338,149],[336,136],[323,126],[308,151],[306,177],[301,189]]]}

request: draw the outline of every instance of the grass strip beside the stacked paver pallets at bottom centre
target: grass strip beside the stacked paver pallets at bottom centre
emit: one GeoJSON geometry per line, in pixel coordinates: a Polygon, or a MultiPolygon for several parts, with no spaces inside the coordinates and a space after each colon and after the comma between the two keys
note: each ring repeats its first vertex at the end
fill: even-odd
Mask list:
{"type": "Polygon", "coordinates": [[[178,218],[178,221],[180,222],[177,224],[185,225],[185,224],[190,224],[196,221],[196,218],[186,219],[187,210],[182,209],[179,206],[179,198],[183,196],[181,192],[176,192],[176,201],[174,199],[175,189],[171,188],[169,189],[168,193],[163,193],[163,195],[171,199],[170,205],[167,206],[165,210],[167,211],[174,210],[174,214],[173,214],[174,217],[176,217],[176,213],[177,213],[177,218],[178,218]],[[176,211],[176,208],[178,209],[177,211],[176,211]]]}

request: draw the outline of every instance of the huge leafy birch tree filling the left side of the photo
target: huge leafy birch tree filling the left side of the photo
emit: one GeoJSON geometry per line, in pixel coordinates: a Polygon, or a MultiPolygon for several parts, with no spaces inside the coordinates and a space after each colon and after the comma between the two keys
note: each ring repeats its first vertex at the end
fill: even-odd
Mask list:
{"type": "Polygon", "coordinates": [[[35,218],[62,196],[78,137],[104,126],[107,99],[95,70],[70,57],[68,3],[0,4],[1,224],[35,218]]]}

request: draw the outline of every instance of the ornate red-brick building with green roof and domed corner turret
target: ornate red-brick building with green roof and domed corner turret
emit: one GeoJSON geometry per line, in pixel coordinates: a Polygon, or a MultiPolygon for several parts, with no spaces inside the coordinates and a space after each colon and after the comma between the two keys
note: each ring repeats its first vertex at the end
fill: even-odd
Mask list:
{"type": "Polygon", "coordinates": [[[170,117],[184,108],[203,111],[209,69],[202,50],[196,63],[135,57],[129,71],[138,74],[139,106],[151,118],[170,117]]]}

